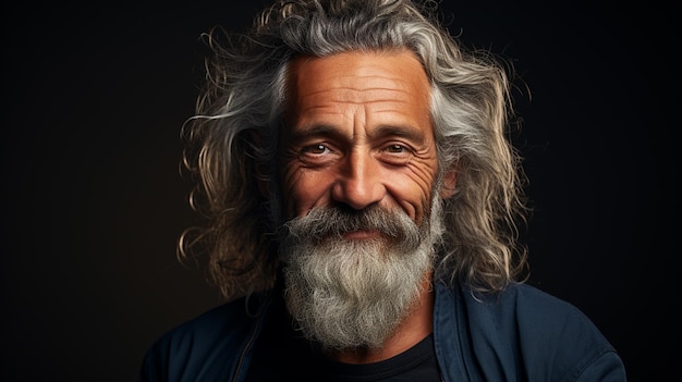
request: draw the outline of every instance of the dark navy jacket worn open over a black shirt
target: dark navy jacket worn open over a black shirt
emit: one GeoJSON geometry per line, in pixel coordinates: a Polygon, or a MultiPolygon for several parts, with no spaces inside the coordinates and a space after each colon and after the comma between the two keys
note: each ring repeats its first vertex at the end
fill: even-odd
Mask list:
{"type": "MultiPolygon", "coordinates": [[[[314,374],[324,360],[295,340],[273,296],[224,304],[166,333],[141,381],[324,381],[314,374]]],[[[480,300],[437,283],[434,342],[447,382],[625,381],[621,358],[585,315],[525,284],[480,300]]]]}

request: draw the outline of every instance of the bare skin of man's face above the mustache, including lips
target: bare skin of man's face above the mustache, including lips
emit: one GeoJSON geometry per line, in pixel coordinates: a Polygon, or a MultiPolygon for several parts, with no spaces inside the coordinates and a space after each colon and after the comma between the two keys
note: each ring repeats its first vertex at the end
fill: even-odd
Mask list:
{"type": "MultiPolygon", "coordinates": [[[[282,136],[287,219],[314,207],[402,209],[421,224],[437,172],[430,84],[416,57],[346,52],[299,58],[282,136]]],[[[349,233],[368,238],[376,232],[349,233]]]]}

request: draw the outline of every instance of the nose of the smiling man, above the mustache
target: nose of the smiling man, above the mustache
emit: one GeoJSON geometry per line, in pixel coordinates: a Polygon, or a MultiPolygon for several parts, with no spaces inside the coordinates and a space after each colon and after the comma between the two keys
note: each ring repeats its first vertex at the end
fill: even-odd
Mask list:
{"type": "Polygon", "coordinates": [[[381,200],[386,194],[381,178],[381,164],[369,152],[352,152],[341,163],[339,178],[331,197],[355,210],[362,210],[381,200]]]}

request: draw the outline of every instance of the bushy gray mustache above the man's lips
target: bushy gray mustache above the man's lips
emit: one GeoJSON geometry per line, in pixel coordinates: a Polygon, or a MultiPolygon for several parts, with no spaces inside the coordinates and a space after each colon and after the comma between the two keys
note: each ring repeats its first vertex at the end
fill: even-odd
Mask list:
{"type": "Polygon", "coordinates": [[[340,238],[355,231],[379,231],[395,241],[418,241],[419,229],[401,209],[386,210],[377,205],[362,210],[346,206],[315,207],[281,227],[281,235],[321,242],[340,238]]]}

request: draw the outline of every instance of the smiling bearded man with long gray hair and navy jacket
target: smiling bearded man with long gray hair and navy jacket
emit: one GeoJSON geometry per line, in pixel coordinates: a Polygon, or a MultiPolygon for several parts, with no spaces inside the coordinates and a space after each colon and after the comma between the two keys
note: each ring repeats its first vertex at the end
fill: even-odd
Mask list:
{"type": "Polygon", "coordinates": [[[228,303],[142,380],[625,380],[582,312],[522,283],[507,75],[428,9],[284,1],[210,36],[185,130],[207,225],[181,249],[228,303]]]}

